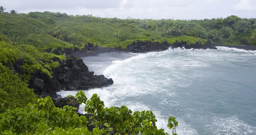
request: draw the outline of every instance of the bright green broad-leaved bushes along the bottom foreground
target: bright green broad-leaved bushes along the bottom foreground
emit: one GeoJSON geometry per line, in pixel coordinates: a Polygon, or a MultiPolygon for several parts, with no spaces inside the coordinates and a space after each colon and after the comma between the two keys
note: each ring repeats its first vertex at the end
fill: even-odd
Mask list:
{"type": "MultiPolygon", "coordinates": [[[[6,110],[0,114],[0,133],[8,134],[133,134],[168,135],[157,129],[156,117],[152,111],[132,111],[126,106],[105,108],[97,94],[88,100],[83,91],[75,96],[85,104],[86,116],[79,116],[71,106],[56,108],[50,97],[29,103],[25,108],[6,110]],[[90,114],[89,114],[90,113],[90,114]]],[[[170,129],[178,126],[174,117],[168,119],[170,129]]]]}

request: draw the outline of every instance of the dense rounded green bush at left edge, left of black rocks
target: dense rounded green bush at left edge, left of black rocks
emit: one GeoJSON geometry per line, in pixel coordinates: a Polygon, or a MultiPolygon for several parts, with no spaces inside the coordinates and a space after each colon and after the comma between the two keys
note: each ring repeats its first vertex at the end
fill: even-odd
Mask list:
{"type": "Polygon", "coordinates": [[[0,112],[24,107],[28,103],[36,103],[36,100],[33,89],[29,89],[17,74],[0,63],[0,112]]]}

